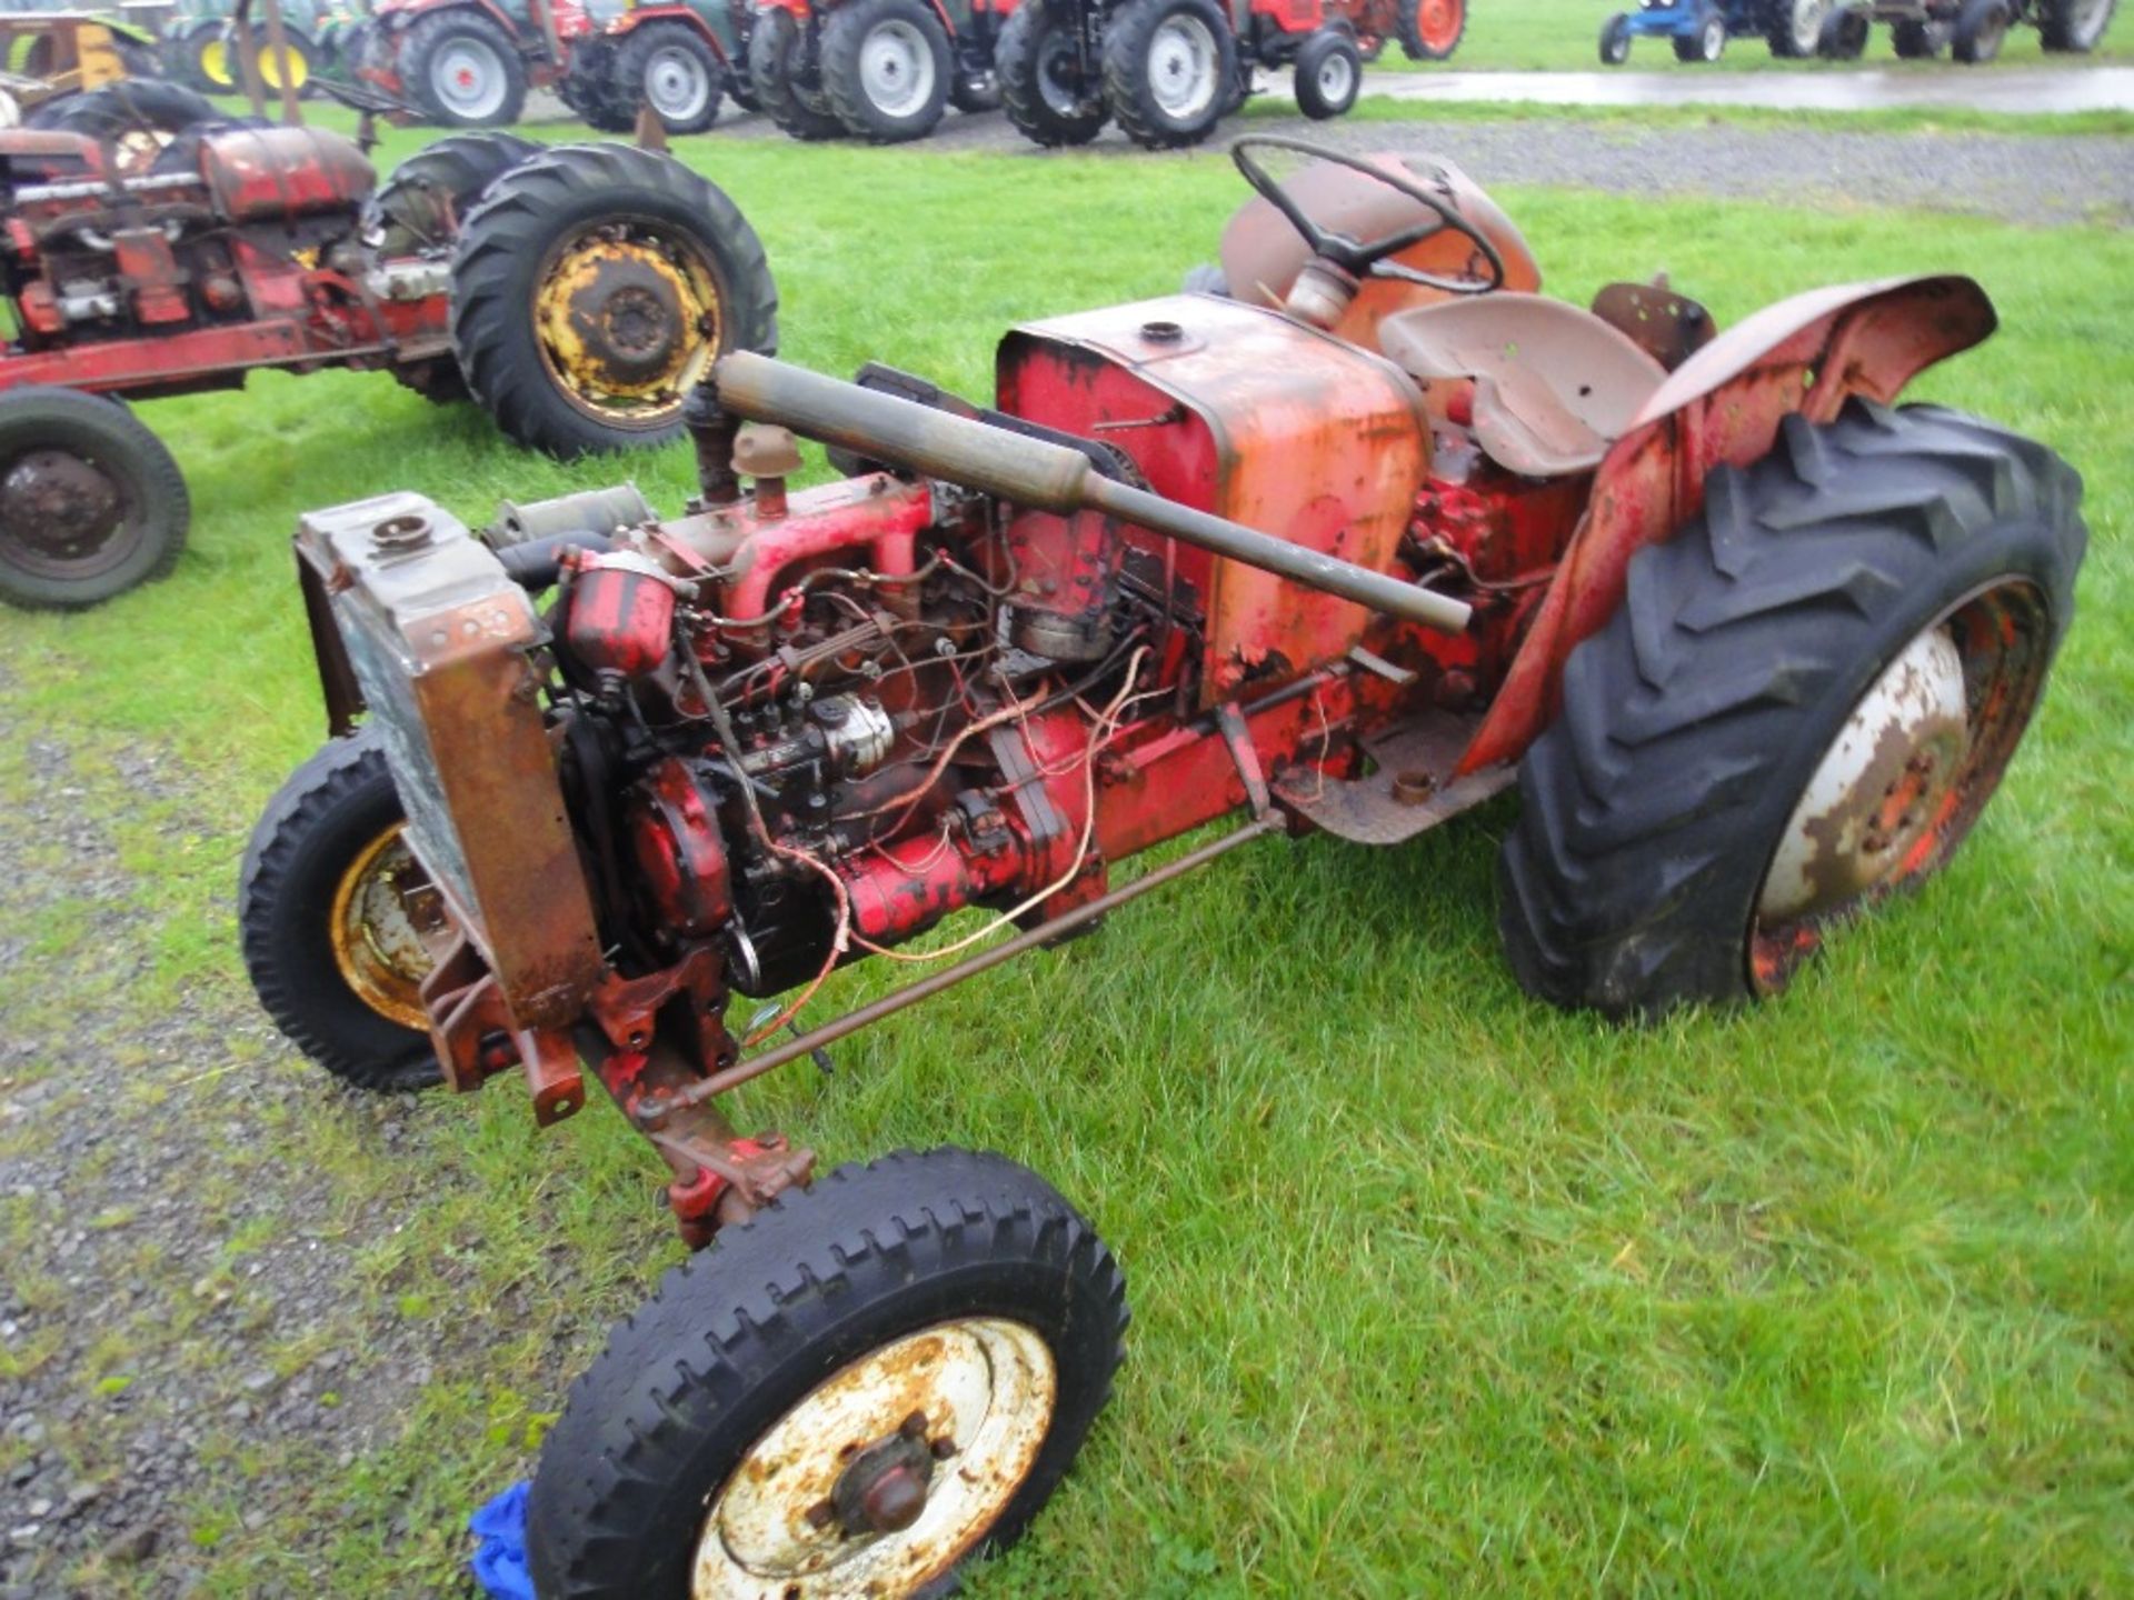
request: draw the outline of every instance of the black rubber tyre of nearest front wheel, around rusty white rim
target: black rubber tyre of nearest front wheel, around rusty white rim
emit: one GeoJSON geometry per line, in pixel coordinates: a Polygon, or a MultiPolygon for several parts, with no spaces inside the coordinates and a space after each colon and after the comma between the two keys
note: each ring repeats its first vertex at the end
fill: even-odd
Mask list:
{"type": "MultiPolygon", "coordinates": [[[[617,1325],[542,1446],[527,1502],[536,1591],[685,1600],[706,1506],[726,1504],[715,1498],[781,1417],[871,1353],[971,1318],[1035,1333],[1056,1376],[1035,1457],[990,1523],[941,1564],[1005,1549],[1110,1397],[1125,1353],[1125,1278],[1095,1229],[1035,1173],[967,1150],[901,1152],[841,1167],[721,1231],[617,1325]]],[[[807,1474],[809,1461],[796,1470],[807,1474]]],[[[758,1587],[781,1591],[773,1577],[758,1587]]]]}

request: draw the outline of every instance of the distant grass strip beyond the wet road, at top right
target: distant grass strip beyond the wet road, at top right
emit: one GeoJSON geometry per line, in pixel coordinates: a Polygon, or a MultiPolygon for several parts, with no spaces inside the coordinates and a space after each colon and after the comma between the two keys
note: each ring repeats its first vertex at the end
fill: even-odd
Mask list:
{"type": "MultiPolygon", "coordinates": [[[[1381,66],[1411,68],[1417,73],[1440,73],[1445,66],[1481,70],[1600,70],[1598,41],[1600,23],[1618,11],[1635,11],[1637,0],[1468,0],[1468,30],[1451,62],[1411,62],[1394,45],[1379,60],[1381,66]]],[[[1867,45],[1865,60],[1872,66],[1897,68],[1906,73],[1933,73],[1942,68],[1933,62],[1899,62],[1889,43],[1889,28],[1876,28],[1867,45]]],[[[2121,9],[2106,30],[2104,41],[2091,55],[2049,55],[2038,45],[2036,28],[2014,28],[2002,47],[2000,62],[2023,66],[2079,66],[2081,62],[2125,62],[2134,53],[2134,15],[2121,9]]],[[[1731,38],[1720,62],[1726,70],[1782,70],[1782,73],[1831,73],[1857,70],[1833,62],[1788,62],[1771,55],[1763,38],[1731,38]]],[[[1630,62],[1622,70],[1669,70],[1701,73],[1707,68],[1675,62],[1675,53],[1665,38],[1641,38],[1630,49],[1630,62]]],[[[1991,73],[1985,68],[1959,68],[1991,73]]]]}

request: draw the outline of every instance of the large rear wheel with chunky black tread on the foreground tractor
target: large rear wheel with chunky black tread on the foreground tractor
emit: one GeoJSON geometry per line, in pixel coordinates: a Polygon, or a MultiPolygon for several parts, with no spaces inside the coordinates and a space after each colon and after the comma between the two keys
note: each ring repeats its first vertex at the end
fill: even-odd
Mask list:
{"type": "Polygon", "coordinates": [[[1654,1015],[1784,988],[1827,928],[1963,841],[2044,687],[2081,478],[1938,407],[1784,422],[1630,561],[1519,768],[1519,983],[1654,1015]]]}

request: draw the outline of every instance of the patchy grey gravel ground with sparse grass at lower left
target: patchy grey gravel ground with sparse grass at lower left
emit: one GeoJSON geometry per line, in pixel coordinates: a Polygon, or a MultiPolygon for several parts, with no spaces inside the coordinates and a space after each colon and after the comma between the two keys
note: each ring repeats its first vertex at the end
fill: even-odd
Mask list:
{"type": "MultiPolygon", "coordinates": [[[[98,817],[181,791],[186,774],[139,749],[81,762],[4,708],[0,747],[28,777],[0,804],[0,1007],[13,1013],[0,1030],[0,1596],[186,1596],[213,1559],[203,1530],[218,1517],[265,1527],[297,1489],[248,1483],[241,1451],[273,1440],[324,1472],[354,1463],[397,1429],[429,1353],[412,1327],[350,1325],[348,1284],[378,1227],[346,1214],[301,1148],[262,1137],[294,1101],[337,1090],[294,1069],[241,994],[169,1011],[132,998],[152,971],[143,885],[98,817]],[[41,1005],[53,983],[64,1013],[41,1005]],[[248,1035],[262,1054],[233,1065],[248,1035]]],[[[201,847],[177,823],[166,843],[201,847]]],[[[416,1116],[412,1097],[344,1109],[384,1158],[416,1116]]],[[[333,1591],[322,1564],[303,1566],[312,1581],[292,1594],[333,1591]]]]}

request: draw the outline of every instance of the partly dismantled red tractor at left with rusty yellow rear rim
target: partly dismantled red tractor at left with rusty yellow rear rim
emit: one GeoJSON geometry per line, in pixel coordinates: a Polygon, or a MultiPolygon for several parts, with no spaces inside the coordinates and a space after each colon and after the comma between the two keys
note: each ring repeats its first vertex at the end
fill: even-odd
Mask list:
{"type": "Polygon", "coordinates": [[[92,606],[177,561],[184,478],[120,397],[380,367],[572,457],[670,439],[715,352],[777,343],[762,243],[668,156],[459,134],[376,188],[320,128],[141,132],[132,158],[0,132],[0,597],[19,606],[92,606]]]}

